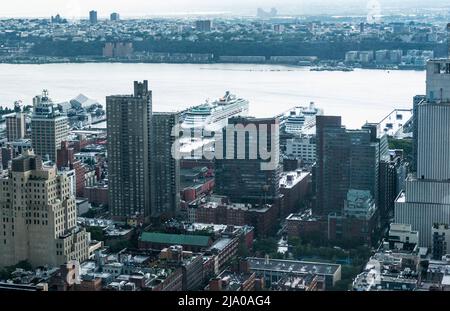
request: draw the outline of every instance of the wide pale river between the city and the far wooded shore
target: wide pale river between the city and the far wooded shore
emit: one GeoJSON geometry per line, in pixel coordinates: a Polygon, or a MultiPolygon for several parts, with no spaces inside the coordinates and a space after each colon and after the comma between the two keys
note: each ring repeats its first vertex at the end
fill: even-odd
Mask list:
{"type": "Polygon", "coordinates": [[[131,94],[134,80],[149,80],[155,111],[176,111],[230,92],[250,101],[250,113],[267,117],[315,102],[341,115],[349,128],[377,122],[395,108],[411,108],[425,92],[424,71],[311,72],[308,68],[235,64],[0,64],[0,105],[31,104],[43,89],[54,102],[78,94],[105,102],[131,94]]]}

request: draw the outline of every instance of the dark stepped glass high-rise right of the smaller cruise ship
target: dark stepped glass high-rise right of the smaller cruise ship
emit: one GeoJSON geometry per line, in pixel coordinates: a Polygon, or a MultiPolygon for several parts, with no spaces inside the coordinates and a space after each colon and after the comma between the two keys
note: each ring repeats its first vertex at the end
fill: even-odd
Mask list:
{"type": "Polygon", "coordinates": [[[316,118],[315,213],[341,213],[350,189],[369,191],[378,206],[380,142],[370,129],[347,130],[341,117],[316,118]]]}

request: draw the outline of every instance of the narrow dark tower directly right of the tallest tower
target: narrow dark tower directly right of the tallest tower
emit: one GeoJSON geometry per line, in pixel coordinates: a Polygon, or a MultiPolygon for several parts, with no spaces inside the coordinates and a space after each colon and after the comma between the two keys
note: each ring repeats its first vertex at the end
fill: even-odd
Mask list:
{"type": "Polygon", "coordinates": [[[172,154],[176,137],[172,129],[179,123],[178,113],[158,112],[153,114],[153,158],[151,182],[152,217],[173,217],[180,209],[180,160],[172,154]]]}

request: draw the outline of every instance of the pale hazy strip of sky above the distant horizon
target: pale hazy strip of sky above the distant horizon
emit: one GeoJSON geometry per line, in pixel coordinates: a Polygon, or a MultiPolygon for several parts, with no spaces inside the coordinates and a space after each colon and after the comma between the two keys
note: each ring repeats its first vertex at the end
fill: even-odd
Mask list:
{"type": "Polygon", "coordinates": [[[280,14],[362,14],[374,2],[379,3],[381,10],[448,4],[448,0],[1,0],[0,17],[49,17],[60,13],[79,18],[91,9],[97,10],[100,17],[111,12],[124,17],[182,13],[254,15],[258,7],[276,7],[280,14]]]}

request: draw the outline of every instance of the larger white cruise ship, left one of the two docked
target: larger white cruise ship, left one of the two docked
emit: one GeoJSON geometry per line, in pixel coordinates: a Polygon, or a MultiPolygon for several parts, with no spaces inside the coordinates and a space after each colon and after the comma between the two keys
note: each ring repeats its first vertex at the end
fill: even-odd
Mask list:
{"type": "Polygon", "coordinates": [[[228,124],[234,116],[247,116],[249,102],[226,92],[225,96],[210,103],[188,109],[183,115],[181,127],[193,131],[215,132],[228,124]]]}

